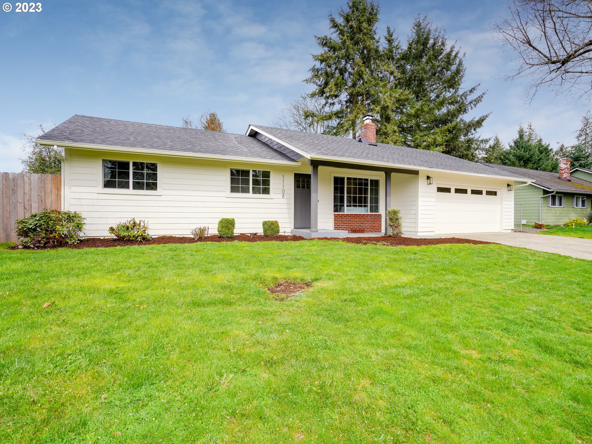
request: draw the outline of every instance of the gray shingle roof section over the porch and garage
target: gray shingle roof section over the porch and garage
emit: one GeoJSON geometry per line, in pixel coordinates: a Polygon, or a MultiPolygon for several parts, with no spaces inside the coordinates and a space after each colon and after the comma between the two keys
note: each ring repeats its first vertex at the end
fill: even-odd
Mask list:
{"type": "Polygon", "coordinates": [[[478,162],[459,159],[436,151],[420,150],[403,146],[378,143],[376,146],[360,143],[346,137],[327,136],[326,134],[303,133],[253,125],[265,133],[283,140],[311,156],[342,157],[365,162],[381,162],[417,168],[445,169],[465,173],[477,173],[490,176],[506,176],[524,179],[525,176],[510,172],[492,172],[491,168],[478,162]]]}

